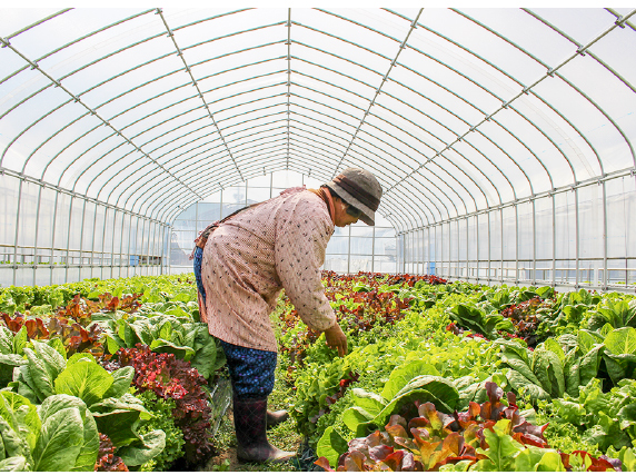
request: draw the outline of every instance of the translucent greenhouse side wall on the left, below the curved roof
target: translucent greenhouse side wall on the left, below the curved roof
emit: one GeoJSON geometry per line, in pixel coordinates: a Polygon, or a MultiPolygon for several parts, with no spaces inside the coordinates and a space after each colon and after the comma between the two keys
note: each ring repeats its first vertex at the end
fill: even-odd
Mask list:
{"type": "Polygon", "coordinates": [[[7,170],[0,194],[1,286],[165,273],[165,224],[7,170]]]}

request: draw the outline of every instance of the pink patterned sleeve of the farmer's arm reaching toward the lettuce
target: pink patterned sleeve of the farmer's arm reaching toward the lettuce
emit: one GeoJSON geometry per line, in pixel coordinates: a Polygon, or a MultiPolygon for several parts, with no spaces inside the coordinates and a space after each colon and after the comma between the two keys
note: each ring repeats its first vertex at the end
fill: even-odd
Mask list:
{"type": "Polygon", "coordinates": [[[319,198],[294,200],[280,210],[276,225],[276,271],[298,315],[311,329],[324,331],[336,323],[325,296],[320,267],[334,231],[319,198]]]}

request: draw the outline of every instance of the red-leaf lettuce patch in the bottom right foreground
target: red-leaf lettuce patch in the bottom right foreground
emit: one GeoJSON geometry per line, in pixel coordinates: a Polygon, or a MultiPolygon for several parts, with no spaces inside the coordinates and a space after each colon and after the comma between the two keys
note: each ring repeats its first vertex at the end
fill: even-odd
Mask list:
{"type": "MultiPolygon", "coordinates": [[[[495,383],[486,383],[488,400],[471,402],[466,412],[441,413],[433,403],[415,405],[418,416],[406,420],[391,415],[385,431],[348,443],[348,451],[337,461],[338,472],[438,471],[447,464],[480,471],[620,471],[620,461],[596,458],[583,451],[563,454],[549,447],[544,432],[519,413],[516,396],[495,383]]],[[[316,465],[334,472],[329,461],[320,457],[316,465]]]]}

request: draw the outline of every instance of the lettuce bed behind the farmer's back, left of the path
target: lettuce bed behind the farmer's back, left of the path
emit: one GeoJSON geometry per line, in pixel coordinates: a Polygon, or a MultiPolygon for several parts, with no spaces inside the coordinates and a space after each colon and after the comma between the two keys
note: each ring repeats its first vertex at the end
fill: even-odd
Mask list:
{"type": "Polygon", "coordinates": [[[3,289],[0,469],[205,463],[229,394],[211,394],[225,356],[198,320],[188,277],[3,289]]]}

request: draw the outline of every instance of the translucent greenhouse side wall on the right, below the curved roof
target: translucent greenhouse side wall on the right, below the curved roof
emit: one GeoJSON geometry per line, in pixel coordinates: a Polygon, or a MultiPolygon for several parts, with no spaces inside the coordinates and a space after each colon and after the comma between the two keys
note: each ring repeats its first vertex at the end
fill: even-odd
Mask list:
{"type": "Polygon", "coordinates": [[[634,175],[449,219],[398,236],[398,268],[451,280],[636,289],[634,175]]]}

